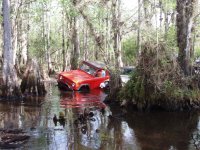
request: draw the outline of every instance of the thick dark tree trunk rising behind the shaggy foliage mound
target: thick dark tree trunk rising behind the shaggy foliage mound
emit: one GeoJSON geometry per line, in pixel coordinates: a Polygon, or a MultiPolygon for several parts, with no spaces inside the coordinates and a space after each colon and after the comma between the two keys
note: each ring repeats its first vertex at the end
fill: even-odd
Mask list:
{"type": "Polygon", "coordinates": [[[178,61],[185,75],[191,72],[192,27],[197,0],[177,0],[177,43],[178,61]]]}

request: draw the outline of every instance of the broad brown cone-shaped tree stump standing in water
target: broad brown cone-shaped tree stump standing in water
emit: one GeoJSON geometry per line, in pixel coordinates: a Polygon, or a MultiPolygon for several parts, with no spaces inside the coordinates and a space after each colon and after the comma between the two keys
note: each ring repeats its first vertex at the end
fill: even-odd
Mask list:
{"type": "Polygon", "coordinates": [[[29,60],[21,82],[23,94],[45,95],[44,75],[36,60],[29,60]]]}

